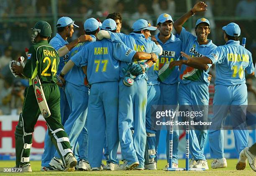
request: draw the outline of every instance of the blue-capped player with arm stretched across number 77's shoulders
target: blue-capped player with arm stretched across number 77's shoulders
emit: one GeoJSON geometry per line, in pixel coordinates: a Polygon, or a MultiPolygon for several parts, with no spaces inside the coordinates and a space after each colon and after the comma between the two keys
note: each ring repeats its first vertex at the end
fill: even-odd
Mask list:
{"type": "MultiPolygon", "coordinates": [[[[157,46],[153,41],[147,38],[151,36],[150,31],[156,30],[147,20],[139,19],[133,24],[133,33],[125,35],[123,33],[111,33],[100,31],[97,38],[111,38],[112,41],[123,41],[126,46],[133,48],[135,51],[147,53],[161,53],[161,46],[157,46]]],[[[134,64],[138,60],[133,60],[134,64]]],[[[129,63],[121,62],[120,67],[124,68],[129,63]]],[[[151,66],[152,61],[147,61],[151,66]]],[[[144,169],[145,147],[146,147],[146,102],[147,102],[147,82],[146,73],[139,74],[134,79],[131,86],[131,79],[125,77],[120,72],[122,78],[119,82],[119,106],[118,106],[118,130],[121,152],[125,160],[124,166],[130,166],[139,162],[137,170],[144,169]],[[128,85],[128,86],[127,86],[128,85]],[[134,129],[132,135],[131,128],[134,129]]]]}

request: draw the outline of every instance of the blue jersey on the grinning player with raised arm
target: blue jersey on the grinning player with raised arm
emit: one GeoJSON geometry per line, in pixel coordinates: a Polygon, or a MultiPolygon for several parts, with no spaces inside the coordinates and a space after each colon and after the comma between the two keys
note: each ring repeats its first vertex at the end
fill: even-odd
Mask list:
{"type": "MultiPolygon", "coordinates": [[[[213,44],[211,40],[208,40],[209,42],[207,44],[199,45],[197,42],[197,37],[186,31],[186,29],[183,27],[179,35],[179,39],[182,41],[182,51],[192,57],[206,56],[211,54],[212,51],[217,48],[217,46],[213,44]]],[[[183,57],[183,59],[186,58],[183,57]]],[[[187,84],[189,82],[202,82],[203,84],[209,85],[210,82],[208,82],[207,78],[211,64],[208,64],[208,66],[209,68],[207,71],[204,71],[182,64],[179,82],[181,84],[187,84]]]]}

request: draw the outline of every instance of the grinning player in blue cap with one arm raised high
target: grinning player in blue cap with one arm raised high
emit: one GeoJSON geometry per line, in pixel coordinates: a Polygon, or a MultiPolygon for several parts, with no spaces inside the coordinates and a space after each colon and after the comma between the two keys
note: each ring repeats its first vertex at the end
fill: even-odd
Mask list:
{"type": "MultiPolygon", "coordinates": [[[[217,46],[207,39],[210,34],[210,23],[205,18],[200,18],[196,22],[195,33],[192,35],[182,25],[195,13],[207,10],[204,2],[196,3],[195,6],[174,22],[174,28],[182,41],[182,51],[192,57],[205,56],[210,54],[217,46]]],[[[185,58],[184,58],[185,59],[185,58]]],[[[198,64],[185,60],[174,61],[171,66],[181,66],[179,75],[179,105],[192,105],[193,111],[204,112],[204,118],[208,114],[209,92],[208,72],[210,64],[198,64]],[[200,106],[200,107],[199,107],[200,106]],[[203,108],[203,109],[202,109],[203,108]]],[[[189,150],[192,160],[189,162],[190,168],[208,168],[204,156],[204,144],[207,137],[207,130],[190,130],[189,150]]]]}

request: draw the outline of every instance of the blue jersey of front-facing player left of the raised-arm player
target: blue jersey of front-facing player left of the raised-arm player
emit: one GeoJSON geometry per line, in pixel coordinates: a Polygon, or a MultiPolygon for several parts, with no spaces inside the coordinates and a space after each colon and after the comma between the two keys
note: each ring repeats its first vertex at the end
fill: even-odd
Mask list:
{"type": "Polygon", "coordinates": [[[174,66],[169,69],[169,64],[172,61],[178,61],[180,57],[180,51],[182,42],[179,38],[171,33],[171,37],[165,43],[159,39],[158,33],[155,37],[157,42],[162,46],[163,53],[159,55],[159,63],[157,64],[157,70],[159,70],[159,81],[164,84],[174,84],[179,82],[179,67],[174,66]]]}

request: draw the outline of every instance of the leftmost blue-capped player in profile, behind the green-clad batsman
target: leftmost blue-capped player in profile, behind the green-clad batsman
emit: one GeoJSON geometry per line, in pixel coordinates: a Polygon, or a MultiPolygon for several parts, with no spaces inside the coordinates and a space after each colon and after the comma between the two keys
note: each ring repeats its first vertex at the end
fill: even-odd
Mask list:
{"type": "MultiPolygon", "coordinates": [[[[91,41],[91,36],[88,35],[82,35],[79,36],[76,40],[68,43],[67,38],[72,37],[74,33],[74,28],[78,27],[74,24],[74,21],[69,17],[61,17],[59,18],[57,22],[57,33],[54,38],[51,39],[49,44],[53,46],[56,51],[58,51],[58,54],[60,56],[60,62],[57,74],[60,73],[61,69],[65,65],[65,63],[69,59],[69,51],[76,46],[80,42],[84,41],[91,41]]],[[[60,91],[60,107],[61,107],[61,124],[64,125],[67,118],[70,114],[70,108],[68,105],[67,97],[63,89],[59,89],[60,91]]],[[[42,163],[41,163],[41,171],[60,171],[64,168],[61,159],[59,158],[53,158],[54,153],[56,152],[56,149],[54,148],[54,145],[51,143],[51,139],[49,138],[48,132],[46,132],[45,140],[44,140],[44,154],[42,156],[42,163]],[[51,160],[52,159],[52,160],[51,160]],[[51,163],[49,164],[49,162],[51,163]]]]}

